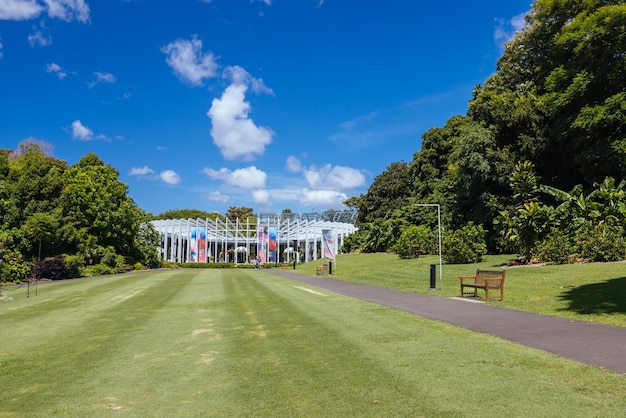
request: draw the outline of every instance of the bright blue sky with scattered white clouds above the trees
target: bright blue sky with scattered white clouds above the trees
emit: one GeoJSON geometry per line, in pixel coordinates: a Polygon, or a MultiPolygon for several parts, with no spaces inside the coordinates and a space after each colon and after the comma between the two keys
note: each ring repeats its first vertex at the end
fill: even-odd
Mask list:
{"type": "Polygon", "coordinates": [[[154,214],[342,209],[465,114],[529,0],[0,0],[0,148],[154,214]]]}

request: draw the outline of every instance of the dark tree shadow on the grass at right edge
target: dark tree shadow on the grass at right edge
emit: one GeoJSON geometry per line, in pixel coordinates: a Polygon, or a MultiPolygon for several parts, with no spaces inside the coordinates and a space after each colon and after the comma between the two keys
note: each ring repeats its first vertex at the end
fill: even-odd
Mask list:
{"type": "Polygon", "coordinates": [[[579,314],[626,313],[626,277],[572,288],[561,299],[569,302],[563,310],[579,314]]]}

